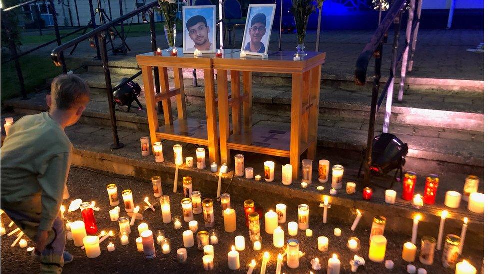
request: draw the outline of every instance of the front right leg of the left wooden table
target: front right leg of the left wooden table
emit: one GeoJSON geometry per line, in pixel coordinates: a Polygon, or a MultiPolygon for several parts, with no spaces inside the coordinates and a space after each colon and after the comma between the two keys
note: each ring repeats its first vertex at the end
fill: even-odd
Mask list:
{"type": "Polygon", "coordinates": [[[210,162],[219,163],[218,135],[217,135],[217,113],[215,106],[215,80],[213,69],[203,70],[205,77],[205,110],[206,126],[208,134],[208,155],[210,162]]]}

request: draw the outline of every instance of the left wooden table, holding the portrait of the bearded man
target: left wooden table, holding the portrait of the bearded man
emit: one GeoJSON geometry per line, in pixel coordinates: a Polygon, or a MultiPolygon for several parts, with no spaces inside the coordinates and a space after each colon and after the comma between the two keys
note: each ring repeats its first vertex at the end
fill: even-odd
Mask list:
{"type": "Polygon", "coordinates": [[[156,55],[154,52],[136,56],[137,63],[142,69],[151,142],[154,145],[154,142],[158,142],[162,138],[208,146],[210,163],[220,163],[215,80],[212,67],[212,58],[215,57],[215,54],[203,54],[203,57],[195,57],[193,54],[183,54],[182,52],[182,48],[179,48],[178,56],[170,56],[166,50],[162,51],[162,56],[156,55]],[[159,94],[155,94],[153,67],[159,68],[161,86],[161,93],[159,94]],[[173,89],[169,89],[168,68],[173,68],[174,71],[175,88],[173,89]],[[206,120],[186,116],[183,68],[196,68],[204,71],[206,120]],[[178,111],[176,120],[173,120],[171,97],[176,97],[178,111]],[[159,101],[162,101],[165,122],[161,127],[159,127],[155,109],[156,103],[159,101]]]}

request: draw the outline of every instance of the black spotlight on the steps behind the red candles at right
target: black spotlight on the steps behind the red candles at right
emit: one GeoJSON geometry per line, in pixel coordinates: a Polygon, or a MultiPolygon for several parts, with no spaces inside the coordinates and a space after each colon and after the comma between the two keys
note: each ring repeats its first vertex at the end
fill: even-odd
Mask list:
{"type": "MultiPolygon", "coordinates": [[[[393,169],[396,169],[395,178],[398,175],[401,177],[403,173],[402,167],[405,165],[405,156],[408,153],[408,144],[403,143],[398,137],[389,133],[381,133],[374,137],[373,148],[371,153],[371,166],[369,170],[373,175],[386,175],[393,169]]],[[[365,154],[365,151],[363,152],[365,154]]],[[[364,156],[364,155],[363,155],[364,156]]],[[[362,165],[359,168],[361,173],[362,165]]]]}

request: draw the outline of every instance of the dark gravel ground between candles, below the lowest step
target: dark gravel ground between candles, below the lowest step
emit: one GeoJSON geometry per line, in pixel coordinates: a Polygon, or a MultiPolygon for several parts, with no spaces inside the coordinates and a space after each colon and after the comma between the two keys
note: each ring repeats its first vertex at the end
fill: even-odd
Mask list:
{"type": "MultiPolygon", "coordinates": [[[[112,207],[109,206],[108,197],[105,189],[105,185],[109,182],[116,183],[119,190],[119,195],[121,190],[129,188],[132,189],[134,194],[134,202],[143,206],[143,198],[148,196],[151,201],[156,201],[156,198],[152,195],[152,186],[149,182],[138,181],[136,179],[121,178],[121,177],[111,177],[100,173],[95,173],[92,171],[83,170],[80,168],[72,168],[69,179],[68,187],[70,189],[71,201],[76,198],[81,198],[86,201],[97,201],[97,205],[101,207],[99,212],[95,212],[95,217],[97,219],[97,225],[99,231],[101,230],[113,230],[118,234],[118,223],[111,222],[108,214],[108,210],[112,207]]],[[[181,215],[181,205],[180,201],[183,198],[181,191],[174,194],[171,188],[168,186],[163,187],[164,193],[171,196],[171,209],[172,215],[181,215]]],[[[198,190],[197,185],[193,185],[193,190],[198,190]]],[[[202,193],[203,197],[208,197],[210,194],[202,193]]],[[[252,194],[247,193],[242,195],[242,198],[252,198],[252,194]]],[[[121,195],[120,195],[121,199],[121,195]]],[[[276,203],[279,202],[279,197],[270,197],[270,199],[275,200],[276,203]]],[[[261,258],[264,251],[269,251],[271,254],[271,259],[267,265],[267,273],[274,273],[276,268],[276,256],[278,252],[284,252],[283,249],[275,248],[272,245],[272,235],[268,235],[264,231],[264,221],[261,219],[261,236],[263,238],[263,248],[260,252],[253,251],[251,242],[248,237],[247,227],[244,225],[244,213],[243,213],[243,200],[238,199],[235,196],[231,198],[232,207],[237,211],[237,231],[233,233],[226,233],[223,229],[223,218],[220,211],[220,204],[214,200],[215,209],[215,227],[220,234],[220,241],[215,248],[215,273],[223,272],[238,272],[245,273],[248,268],[248,264],[252,259],[257,261],[257,266],[254,271],[256,273],[259,270],[261,264],[261,258]],[[237,235],[243,235],[246,239],[246,249],[240,252],[240,270],[230,271],[227,266],[227,252],[230,250],[231,245],[234,243],[234,237],[237,235]]],[[[255,201],[256,208],[259,207],[259,201],[255,201]]],[[[67,204],[67,203],[66,203],[67,204]]],[[[66,205],[66,207],[68,204],[66,205]]],[[[123,207],[123,204],[120,204],[123,207]]],[[[102,253],[99,257],[94,259],[86,258],[84,250],[75,247],[72,241],[67,241],[66,250],[74,255],[74,261],[64,267],[64,272],[66,273],[200,273],[204,272],[202,265],[203,251],[196,248],[196,245],[188,249],[188,261],[184,264],[179,264],[176,260],[176,249],[182,247],[182,236],[181,233],[188,228],[187,223],[183,224],[181,230],[174,230],[172,224],[164,224],[161,218],[161,212],[159,205],[156,205],[156,211],[153,212],[150,209],[144,212],[143,222],[149,224],[149,229],[154,232],[158,229],[166,231],[167,237],[171,239],[171,253],[164,255],[161,249],[157,247],[157,257],[153,260],[146,260],[144,256],[137,252],[135,245],[135,238],[138,236],[137,225],[142,221],[137,220],[135,225],[132,227],[132,233],[130,234],[130,243],[127,246],[120,245],[118,236],[110,237],[101,244],[102,253]],[[109,242],[115,244],[115,251],[108,252],[106,250],[106,245],[109,242]]],[[[267,209],[264,209],[267,210],[267,209]]],[[[124,210],[121,211],[121,216],[124,215],[124,210]]],[[[65,214],[68,220],[80,220],[81,214],[79,211],[65,214]]],[[[203,216],[202,214],[194,215],[195,220],[198,220],[199,230],[209,230],[203,228],[203,216]]],[[[296,221],[297,211],[295,209],[288,208],[287,211],[287,221],[296,221]]],[[[10,220],[3,215],[2,221],[5,225],[8,225],[10,220]]],[[[362,229],[352,232],[350,230],[349,223],[344,224],[340,222],[334,222],[330,220],[324,225],[321,222],[321,218],[312,217],[310,220],[310,229],[313,230],[312,237],[306,237],[304,231],[299,231],[298,236],[294,236],[300,240],[300,250],[305,252],[305,256],[300,260],[300,267],[298,269],[292,270],[286,266],[283,266],[282,271],[285,273],[309,273],[312,271],[310,260],[312,258],[318,257],[320,259],[322,269],[320,271],[314,271],[315,273],[325,273],[326,264],[328,258],[331,257],[332,253],[337,253],[339,259],[341,260],[341,271],[343,273],[350,273],[350,264],[348,263],[350,259],[353,258],[354,254],[358,254],[366,260],[366,264],[360,267],[357,273],[406,273],[406,265],[408,263],[401,259],[401,250],[403,243],[409,241],[410,235],[391,233],[388,230],[385,232],[385,236],[388,239],[386,259],[393,260],[395,267],[392,271],[386,270],[383,263],[374,263],[367,259],[368,252],[368,236],[369,229],[362,229]],[[342,236],[336,237],[333,234],[334,228],[342,229],[342,236]],[[320,235],[325,235],[329,238],[329,249],[327,252],[319,252],[317,249],[317,237],[320,235]],[[358,252],[352,252],[347,249],[346,244],[350,236],[356,236],[361,240],[361,248],[358,252]]],[[[11,231],[13,228],[7,227],[7,232],[11,231]]],[[[287,228],[283,226],[285,230],[285,237],[291,238],[287,235],[287,228]]],[[[420,246],[420,239],[422,235],[418,235],[418,246],[420,246]]],[[[14,241],[15,236],[7,237],[6,235],[1,237],[1,271],[4,273],[32,273],[38,272],[39,263],[33,261],[25,249],[20,249],[18,245],[14,248],[10,247],[10,244],[14,241]]],[[[29,246],[33,246],[31,241],[29,246]]],[[[196,244],[196,241],[195,241],[196,244]]],[[[420,249],[420,247],[418,247],[420,249]]],[[[418,255],[418,252],[417,252],[418,255]]],[[[435,254],[435,262],[431,266],[426,266],[418,261],[413,264],[417,268],[425,268],[428,273],[441,274],[441,273],[454,273],[454,270],[442,267],[441,264],[441,253],[439,251],[435,254]]],[[[478,273],[480,273],[483,255],[480,252],[473,252],[469,248],[464,249],[464,254],[462,258],[468,259],[471,264],[473,264],[478,273]]]]}

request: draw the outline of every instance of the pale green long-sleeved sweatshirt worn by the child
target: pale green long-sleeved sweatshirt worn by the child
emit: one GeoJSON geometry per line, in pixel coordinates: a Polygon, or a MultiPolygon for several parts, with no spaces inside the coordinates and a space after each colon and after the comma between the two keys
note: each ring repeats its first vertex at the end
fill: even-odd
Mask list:
{"type": "Polygon", "coordinates": [[[1,207],[40,213],[41,230],[59,214],[73,145],[47,112],[24,116],[1,148],[1,207]]]}

